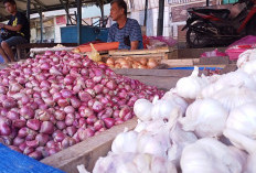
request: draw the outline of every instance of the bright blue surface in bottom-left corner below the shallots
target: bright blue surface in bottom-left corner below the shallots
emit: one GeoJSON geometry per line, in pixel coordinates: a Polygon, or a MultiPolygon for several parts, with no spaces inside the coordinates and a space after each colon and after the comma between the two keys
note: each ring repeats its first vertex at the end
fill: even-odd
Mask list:
{"type": "Polygon", "coordinates": [[[64,173],[0,143],[0,173],[64,173]]]}

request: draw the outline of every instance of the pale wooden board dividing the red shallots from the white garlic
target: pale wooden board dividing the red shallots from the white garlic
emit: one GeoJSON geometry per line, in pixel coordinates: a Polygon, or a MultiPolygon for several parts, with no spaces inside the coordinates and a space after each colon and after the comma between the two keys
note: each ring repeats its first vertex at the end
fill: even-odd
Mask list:
{"type": "Polygon", "coordinates": [[[110,151],[111,142],[125,128],[132,130],[137,126],[137,118],[115,126],[109,130],[67,148],[54,155],[41,160],[42,163],[61,169],[66,173],[78,173],[76,166],[84,164],[92,172],[99,156],[105,156],[110,151]]]}

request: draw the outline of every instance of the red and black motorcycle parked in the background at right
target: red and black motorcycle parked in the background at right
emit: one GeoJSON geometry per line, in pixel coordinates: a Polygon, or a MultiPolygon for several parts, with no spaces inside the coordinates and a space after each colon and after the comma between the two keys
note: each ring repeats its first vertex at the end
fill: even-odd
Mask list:
{"type": "Polygon", "coordinates": [[[253,0],[238,0],[243,10],[233,19],[227,9],[190,8],[185,26],[190,47],[228,45],[245,35],[256,35],[256,7],[253,0]]]}

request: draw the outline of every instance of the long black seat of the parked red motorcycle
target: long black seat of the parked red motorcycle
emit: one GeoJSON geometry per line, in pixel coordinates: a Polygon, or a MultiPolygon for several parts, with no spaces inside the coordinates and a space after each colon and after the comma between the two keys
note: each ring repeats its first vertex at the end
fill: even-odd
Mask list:
{"type": "Polygon", "coordinates": [[[217,18],[227,19],[231,11],[227,9],[194,9],[195,12],[213,14],[217,18]]]}

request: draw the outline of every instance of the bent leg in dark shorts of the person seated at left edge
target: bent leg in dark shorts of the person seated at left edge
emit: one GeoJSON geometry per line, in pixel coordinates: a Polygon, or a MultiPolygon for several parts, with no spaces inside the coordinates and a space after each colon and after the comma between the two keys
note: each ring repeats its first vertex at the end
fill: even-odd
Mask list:
{"type": "Polygon", "coordinates": [[[11,50],[12,46],[17,46],[18,44],[24,44],[28,41],[22,36],[12,36],[1,43],[2,48],[4,50],[7,56],[14,62],[14,54],[11,50]]]}

